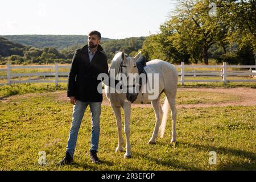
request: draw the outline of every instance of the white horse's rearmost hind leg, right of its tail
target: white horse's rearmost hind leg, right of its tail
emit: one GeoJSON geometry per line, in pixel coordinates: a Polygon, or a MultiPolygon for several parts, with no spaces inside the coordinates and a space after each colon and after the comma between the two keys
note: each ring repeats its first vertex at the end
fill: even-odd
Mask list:
{"type": "Polygon", "coordinates": [[[165,91],[164,93],[166,94],[166,97],[168,99],[168,102],[170,104],[171,111],[172,111],[172,139],[171,139],[171,143],[172,143],[172,142],[176,142],[176,137],[177,137],[177,133],[176,133],[177,110],[176,110],[176,105],[175,105],[176,91],[173,91],[173,92],[165,91]]]}

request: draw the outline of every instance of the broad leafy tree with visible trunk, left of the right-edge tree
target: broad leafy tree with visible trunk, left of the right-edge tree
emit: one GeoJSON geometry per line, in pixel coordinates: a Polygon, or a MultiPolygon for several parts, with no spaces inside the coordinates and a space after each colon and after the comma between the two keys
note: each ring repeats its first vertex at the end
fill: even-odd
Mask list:
{"type": "Polygon", "coordinates": [[[210,3],[209,0],[179,0],[175,15],[171,16],[169,22],[176,30],[174,36],[171,37],[175,47],[181,51],[185,51],[184,48],[187,49],[192,59],[195,60],[201,54],[205,64],[208,64],[209,48],[216,43],[224,44],[228,31],[227,24],[222,19],[221,5],[219,5],[218,13],[210,16],[210,3]],[[184,46],[180,47],[180,45],[184,46]]]}

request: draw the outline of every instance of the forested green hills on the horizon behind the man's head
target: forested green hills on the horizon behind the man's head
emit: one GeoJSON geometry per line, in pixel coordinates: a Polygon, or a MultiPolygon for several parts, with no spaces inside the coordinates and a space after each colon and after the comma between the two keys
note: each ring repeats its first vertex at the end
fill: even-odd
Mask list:
{"type": "MultiPolygon", "coordinates": [[[[20,40],[20,35],[13,36],[13,38],[18,38],[16,40],[20,40]]],[[[61,35],[60,35],[61,36],[61,35]]],[[[6,37],[6,36],[5,36],[6,37]]],[[[22,36],[20,36],[22,37],[22,36]]],[[[26,36],[25,36],[26,37],[26,36]]],[[[23,41],[28,43],[32,42],[31,39],[34,40],[34,46],[28,45],[24,46],[20,43],[13,43],[10,40],[3,38],[0,36],[0,64],[6,64],[10,62],[11,64],[49,64],[49,63],[71,63],[73,54],[76,49],[81,48],[86,44],[86,40],[79,42],[78,38],[73,42],[68,42],[68,39],[72,38],[71,36],[67,36],[68,39],[65,39],[63,36],[58,38],[56,36],[28,36],[28,40],[24,39],[23,41]],[[38,48],[35,45],[44,44],[47,45],[49,43],[48,40],[51,40],[52,46],[38,48]],[[53,40],[55,40],[53,42],[53,40]],[[57,42],[60,40],[60,42],[57,42]],[[46,43],[44,43],[46,41],[46,43]],[[48,41],[48,42],[47,42],[48,41]],[[60,48],[60,44],[62,44],[63,49],[56,49],[56,47],[60,48]]],[[[87,39],[85,36],[84,39],[87,39]]],[[[146,38],[126,38],[119,40],[112,40],[103,38],[101,42],[101,46],[104,48],[105,53],[108,57],[108,61],[110,62],[116,51],[125,51],[128,55],[134,56],[139,49],[142,48],[142,44],[146,38]]]]}

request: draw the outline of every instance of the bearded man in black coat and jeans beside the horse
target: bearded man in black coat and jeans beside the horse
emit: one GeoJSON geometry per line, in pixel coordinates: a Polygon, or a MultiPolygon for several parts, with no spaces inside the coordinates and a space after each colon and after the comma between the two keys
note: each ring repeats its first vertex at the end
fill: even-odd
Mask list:
{"type": "Polygon", "coordinates": [[[99,164],[97,157],[98,142],[100,137],[100,114],[102,93],[97,91],[100,80],[97,77],[100,73],[108,74],[108,61],[100,46],[101,34],[92,31],[88,35],[88,45],[77,49],[73,56],[71,70],[68,77],[68,97],[73,104],[73,117],[69,131],[67,151],[65,157],[57,166],[73,163],[77,134],[81,120],[84,117],[86,107],[90,106],[92,120],[92,132],[90,138],[90,160],[99,164]]]}

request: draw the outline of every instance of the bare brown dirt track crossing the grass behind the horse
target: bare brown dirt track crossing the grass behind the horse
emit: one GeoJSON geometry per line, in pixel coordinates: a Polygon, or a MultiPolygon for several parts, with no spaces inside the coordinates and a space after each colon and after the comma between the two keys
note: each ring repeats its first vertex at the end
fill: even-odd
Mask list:
{"type": "MultiPolygon", "coordinates": [[[[218,103],[210,103],[210,104],[177,104],[177,109],[179,108],[193,108],[193,107],[213,107],[213,106],[250,106],[256,105],[256,89],[251,88],[180,88],[177,92],[183,91],[194,91],[194,92],[213,92],[213,93],[222,93],[222,94],[232,94],[233,96],[237,96],[241,98],[241,101],[232,101],[232,102],[218,102],[218,103]]],[[[50,93],[29,93],[23,96],[11,96],[7,98],[2,98],[1,102],[9,102],[14,100],[15,98],[29,98],[36,96],[53,96],[56,101],[67,101],[67,93],[66,91],[57,91],[50,93]]],[[[110,106],[109,101],[106,99],[105,94],[103,94],[104,100],[102,105],[110,106]]],[[[133,104],[132,107],[152,107],[151,104],[133,104]]]]}

